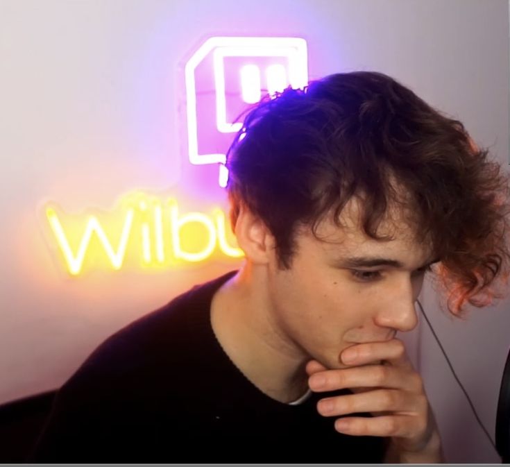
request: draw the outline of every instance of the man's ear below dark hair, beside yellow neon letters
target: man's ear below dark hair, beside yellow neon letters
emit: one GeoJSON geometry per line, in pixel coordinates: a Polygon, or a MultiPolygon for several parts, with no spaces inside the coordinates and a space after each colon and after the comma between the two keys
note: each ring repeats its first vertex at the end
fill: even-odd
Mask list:
{"type": "Polygon", "coordinates": [[[274,255],[275,238],[266,224],[245,206],[239,210],[235,236],[246,258],[255,264],[266,264],[274,255]]]}

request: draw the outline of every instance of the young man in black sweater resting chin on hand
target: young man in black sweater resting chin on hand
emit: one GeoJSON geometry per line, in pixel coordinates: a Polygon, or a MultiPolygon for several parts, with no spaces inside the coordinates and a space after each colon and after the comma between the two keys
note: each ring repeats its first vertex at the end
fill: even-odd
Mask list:
{"type": "Polygon", "coordinates": [[[506,277],[508,180],[487,155],[384,74],[264,99],[228,154],[243,266],[105,341],[29,460],[443,461],[396,334],[427,270],[454,314],[506,277]]]}

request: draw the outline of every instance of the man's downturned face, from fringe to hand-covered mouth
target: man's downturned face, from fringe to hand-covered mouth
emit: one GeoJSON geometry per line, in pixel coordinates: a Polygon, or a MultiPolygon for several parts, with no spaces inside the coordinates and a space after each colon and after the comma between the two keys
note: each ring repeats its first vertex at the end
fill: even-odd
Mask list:
{"type": "Polygon", "coordinates": [[[340,354],[355,343],[388,341],[415,328],[414,303],[434,260],[398,214],[378,230],[394,240],[366,237],[352,220],[357,206],[344,210],[346,228],[321,223],[318,237],[326,241],[309,229],[298,233],[290,269],[279,269],[275,259],[269,267],[270,319],[285,343],[280,350],[297,350],[328,368],[345,368],[340,354]]]}

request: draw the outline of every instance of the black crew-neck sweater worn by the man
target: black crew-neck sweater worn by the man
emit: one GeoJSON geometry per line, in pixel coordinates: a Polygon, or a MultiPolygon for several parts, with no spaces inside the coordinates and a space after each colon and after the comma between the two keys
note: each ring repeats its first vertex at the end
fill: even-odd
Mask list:
{"type": "Polygon", "coordinates": [[[60,389],[30,462],[382,462],[384,439],[334,430],[314,393],[266,396],[232,364],[210,324],[235,271],[178,296],[107,339],[60,389]]]}

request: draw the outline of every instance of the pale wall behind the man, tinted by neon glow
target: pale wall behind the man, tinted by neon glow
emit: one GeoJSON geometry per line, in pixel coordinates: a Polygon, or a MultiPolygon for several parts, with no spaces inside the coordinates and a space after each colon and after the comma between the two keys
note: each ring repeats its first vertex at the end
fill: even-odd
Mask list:
{"type": "MultiPolygon", "coordinates": [[[[507,167],[508,22],[507,0],[0,0],[0,402],[57,387],[122,325],[237,264],[69,278],[40,214],[178,187],[182,63],[205,37],[305,37],[310,78],[389,74],[507,167]]],[[[430,289],[423,304],[494,436],[508,300],[466,322],[430,289]]],[[[424,323],[406,339],[448,461],[499,461],[424,323]]]]}

